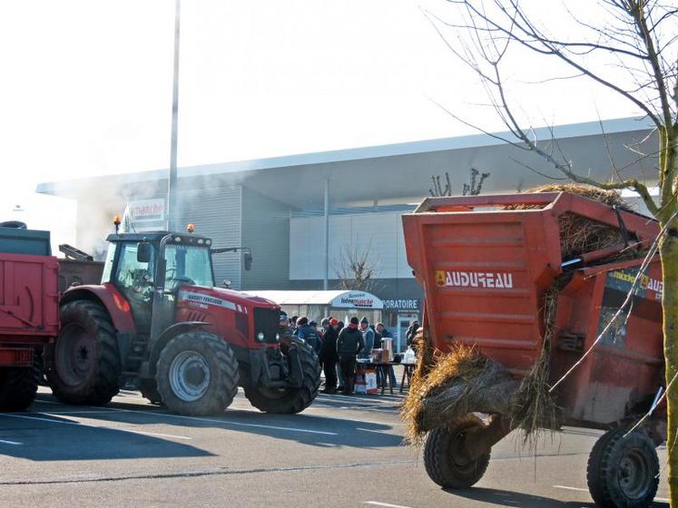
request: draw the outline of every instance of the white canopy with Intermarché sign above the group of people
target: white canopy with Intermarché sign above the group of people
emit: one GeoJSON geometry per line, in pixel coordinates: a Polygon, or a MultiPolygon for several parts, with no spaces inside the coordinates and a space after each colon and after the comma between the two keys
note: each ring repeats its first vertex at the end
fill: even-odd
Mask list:
{"type": "Polygon", "coordinates": [[[246,294],[266,298],[279,305],[327,305],[329,308],[381,309],[378,297],[365,291],[269,291],[248,289],[246,294]]]}

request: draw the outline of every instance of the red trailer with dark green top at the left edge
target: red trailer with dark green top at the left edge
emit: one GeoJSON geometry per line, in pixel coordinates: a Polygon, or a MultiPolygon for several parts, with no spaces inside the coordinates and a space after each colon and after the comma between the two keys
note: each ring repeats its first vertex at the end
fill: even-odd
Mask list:
{"type": "Polygon", "coordinates": [[[33,402],[43,347],[59,331],[59,269],[48,254],[48,232],[0,227],[1,411],[33,402]]]}

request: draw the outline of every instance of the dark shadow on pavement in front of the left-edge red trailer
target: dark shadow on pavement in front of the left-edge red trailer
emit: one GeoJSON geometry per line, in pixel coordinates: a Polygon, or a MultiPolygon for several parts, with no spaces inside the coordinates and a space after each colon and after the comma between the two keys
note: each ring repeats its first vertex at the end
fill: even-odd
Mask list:
{"type": "MultiPolygon", "coordinates": [[[[152,432],[152,429],[133,430],[152,432]]],[[[6,440],[0,442],[0,455],[37,462],[212,455],[169,438],[79,425],[71,418],[40,412],[25,413],[21,417],[0,413],[0,440],[6,440]]]]}

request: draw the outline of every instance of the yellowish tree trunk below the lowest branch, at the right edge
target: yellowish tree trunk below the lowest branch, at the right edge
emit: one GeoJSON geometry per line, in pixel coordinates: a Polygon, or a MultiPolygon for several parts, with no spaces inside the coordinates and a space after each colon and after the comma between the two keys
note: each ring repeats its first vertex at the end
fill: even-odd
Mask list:
{"type": "MultiPolygon", "coordinates": [[[[661,246],[663,278],[663,355],[666,362],[666,386],[678,372],[678,220],[666,230],[661,246]]],[[[669,492],[671,506],[678,507],[678,385],[666,397],[668,414],[667,450],[669,455],[669,492]]]]}

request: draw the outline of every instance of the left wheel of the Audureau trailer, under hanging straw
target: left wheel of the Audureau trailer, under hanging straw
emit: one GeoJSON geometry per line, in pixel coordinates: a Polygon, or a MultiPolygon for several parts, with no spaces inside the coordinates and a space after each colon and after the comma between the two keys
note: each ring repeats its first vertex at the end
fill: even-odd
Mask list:
{"type": "Polygon", "coordinates": [[[431,480],[446,489],[466,489],[483,477],[489,464],[490,450],[469,459],[465,439],[471,429],[484,426],[469,415],[449,427],[438,427],[427,435],[424,466],[431,480]]]}

